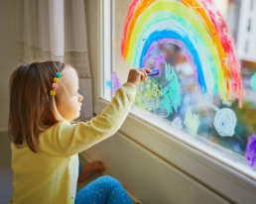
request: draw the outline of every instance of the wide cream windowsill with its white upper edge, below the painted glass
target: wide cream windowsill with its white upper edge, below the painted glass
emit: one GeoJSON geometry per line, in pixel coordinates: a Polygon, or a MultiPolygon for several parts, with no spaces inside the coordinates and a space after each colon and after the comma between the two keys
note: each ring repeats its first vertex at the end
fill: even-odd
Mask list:
{"type": "MultiPolygon", "coordinates": [[[[99,99],[94,104],[95,114],[100,114],[108,103],[105,99],[99,99]]],[[[139,111],[136,110],[137,114],[139,111]]],[[[230,199],[237,196],[239,200],[241,193],[254,195],[255,173],[246,168],[247,163],[243,156],[222,150],[220,146],[212,149],[201,148],[201,144],[209,142],[202,137],[192,139],[189,135],[186,136],[184,131],[170,131],[170,124],[167,122],[164,124],[161,121],[163,127],[160,128],[148,121],[152,116],[147,114],[144,112],[145,118],[142,118],[131,111],[119,132],[223,197],[230,199]],[[199,140],[196,140],[197,138],[199,140]],[[217,150],[228,155],[219,155],[217,150]],[[241,163],[230,161],[230,157],[241,160],[241,163]]]]}

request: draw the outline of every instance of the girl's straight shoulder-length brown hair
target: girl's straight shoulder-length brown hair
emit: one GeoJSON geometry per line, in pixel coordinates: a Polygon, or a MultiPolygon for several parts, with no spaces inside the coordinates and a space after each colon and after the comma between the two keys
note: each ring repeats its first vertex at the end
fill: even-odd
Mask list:
{"type": "Polygon", "coordinates": [[[8,130],[14,144],[26,142],[31,151],[37,153],[39,134],[60,121],[56,99],[50,91],[56,73],[63,73],[68,67],[60,61],[34,61],[13,72],[8,130]]]}

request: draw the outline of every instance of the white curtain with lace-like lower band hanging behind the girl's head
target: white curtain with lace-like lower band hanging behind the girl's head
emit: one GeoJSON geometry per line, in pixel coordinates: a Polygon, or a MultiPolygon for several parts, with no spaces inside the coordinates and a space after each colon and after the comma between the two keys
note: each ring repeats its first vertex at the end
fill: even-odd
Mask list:
{"type": "Polygon", "coordinates": [[[19,61],[60,60],[78,73],[83,95],[81,117],[92,117],[84,0],[18,0],[19,61]]]}

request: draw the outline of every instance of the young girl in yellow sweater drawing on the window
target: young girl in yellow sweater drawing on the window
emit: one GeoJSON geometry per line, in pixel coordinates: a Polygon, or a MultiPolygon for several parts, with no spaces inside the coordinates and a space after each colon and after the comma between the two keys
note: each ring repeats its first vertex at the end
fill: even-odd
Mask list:
{"type": "Polygon", "coordinates": [[[14,192],[9,203],[132,203],[120,182],[110,176],[94,180],[75,195],[77,153],[117,132],[134,102],[136,86],[147,78],[146,72],[150,70],[131,69],[127,83],[101,115],[71,124],[79,117],[83,100],[75,70],[59,61],[18,67],[10,80],[14,192]]]}

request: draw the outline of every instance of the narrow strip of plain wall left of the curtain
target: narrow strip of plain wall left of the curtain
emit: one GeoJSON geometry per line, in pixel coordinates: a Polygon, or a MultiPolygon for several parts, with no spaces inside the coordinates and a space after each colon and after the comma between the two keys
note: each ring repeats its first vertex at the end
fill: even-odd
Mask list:
{"type": "Polygon", "coordinates": [[[16,68],[14,0],[0,0],[0,132],[7,131],[9,78],[16,68]]]}

